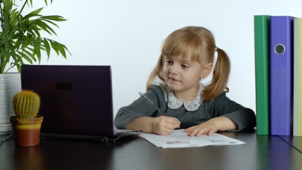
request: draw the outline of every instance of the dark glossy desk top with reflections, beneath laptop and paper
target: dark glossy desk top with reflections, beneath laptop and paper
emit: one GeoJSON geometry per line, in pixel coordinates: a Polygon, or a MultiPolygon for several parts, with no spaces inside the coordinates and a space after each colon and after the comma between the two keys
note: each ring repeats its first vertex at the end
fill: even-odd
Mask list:
{"type": "Polygon", "coordinates": [[[116,143],[42,139],[0,147],[0,170],[302,170],[302,154],[278,136],[222,132],[244,145],[157,148],[139,137],[116,143]]]}

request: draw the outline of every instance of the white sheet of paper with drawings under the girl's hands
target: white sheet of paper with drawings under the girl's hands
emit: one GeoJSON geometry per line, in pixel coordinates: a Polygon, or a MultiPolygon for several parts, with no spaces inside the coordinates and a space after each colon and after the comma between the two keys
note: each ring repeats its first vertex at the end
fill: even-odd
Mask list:
{"type": "Polygon", "coordinates": [[[213,145],[239,145],[245,144],[242,141],[229,138],[224,135],[215,133],[211,136],[199,135],[190,137],[184,132],[184,129],[174,130],[170,135],[155,135],[142,133],[139,135],[151,142],[153,145],[161,148],[190,148],[213,145]]]}

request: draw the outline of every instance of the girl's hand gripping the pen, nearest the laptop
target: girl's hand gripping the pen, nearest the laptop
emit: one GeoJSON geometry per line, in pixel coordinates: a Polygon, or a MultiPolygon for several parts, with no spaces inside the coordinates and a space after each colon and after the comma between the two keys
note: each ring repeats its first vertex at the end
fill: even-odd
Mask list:
{"type": "Polygon", "coordinates": [[[152,122],[152,131],[158,135],[169,135],[175,128],[180,127],[180,122],[175,117],[159,116],[152,122]]]}

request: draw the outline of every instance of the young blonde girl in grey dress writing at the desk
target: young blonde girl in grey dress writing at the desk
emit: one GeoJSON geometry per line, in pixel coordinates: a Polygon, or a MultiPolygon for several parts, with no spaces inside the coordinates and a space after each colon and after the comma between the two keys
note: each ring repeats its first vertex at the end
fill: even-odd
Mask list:
{"type": "Polygon", "coordinates": [[[158,135],[185,128],[189,136],[253,128],[256,125],[253,110],[226,96],[229,69],[227,54],[216,46],[208,29],[195,26],[178,29],[165,39],[145,93],[166,116],[140,97],[118,111],[114,124],[119,129],[158,135]],[[215,53],[218,57],[213,79],[205,86],[200,82],[211,73],[215,53]],[[157,77],[161,83],[153,84],[157,77]]]}

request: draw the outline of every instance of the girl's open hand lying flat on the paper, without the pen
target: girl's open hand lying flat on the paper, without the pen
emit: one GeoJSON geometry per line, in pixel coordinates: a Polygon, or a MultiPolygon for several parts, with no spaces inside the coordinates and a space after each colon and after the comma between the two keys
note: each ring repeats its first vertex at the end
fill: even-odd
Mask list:
{"type": "Polygon", "coordinates": [[[209,120],[199,125],[192,126],[188,129],[185,129],[185,132],[188,133],[188,136],[199,136],[202,134],[207,134],[208,136],[210,136],[216,133],[217,131],[218,131],[218,126],[213,120],[209,120]]]}

